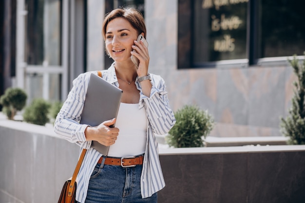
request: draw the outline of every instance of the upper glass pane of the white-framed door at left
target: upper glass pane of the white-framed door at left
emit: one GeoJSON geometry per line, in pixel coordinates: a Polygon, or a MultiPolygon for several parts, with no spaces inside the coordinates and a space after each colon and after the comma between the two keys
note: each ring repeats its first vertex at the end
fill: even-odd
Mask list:
{"type": "Polygon", "coordinates": [[[26,0],[25,53],[30,65],[60,65],[60,0],[26,0]]]}

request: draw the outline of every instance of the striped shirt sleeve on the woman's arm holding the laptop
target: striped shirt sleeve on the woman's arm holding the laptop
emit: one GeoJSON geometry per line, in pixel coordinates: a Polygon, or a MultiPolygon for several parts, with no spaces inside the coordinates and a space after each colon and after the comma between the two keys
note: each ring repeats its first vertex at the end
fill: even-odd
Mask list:
{"type": "Polygon", "coordinates": [[[88,125],[79,122],[89,82],[88,75],[90,74],[80,74],[73,81],[73,88],[57,114],[54,124],[54,131],[60,137],[87,149],[91,145],[91,141],[86,141],[84,133],[88,125]]]}

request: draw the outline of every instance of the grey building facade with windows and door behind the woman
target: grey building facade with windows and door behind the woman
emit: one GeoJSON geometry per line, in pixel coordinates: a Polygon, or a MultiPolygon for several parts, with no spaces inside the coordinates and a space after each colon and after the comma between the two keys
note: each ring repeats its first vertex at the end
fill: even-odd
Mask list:
{"type": "Polygon", "coordinates": [[[166,81],[174,111],[208,110],[210,135],[281,136],[296,79],[287,58],[304,59],[301,0],[7,0],[2,16],[0,93],[65,100],[72,80],[105,69],[101,25],[123,5],[147,24],[150,72],[166,81]],[[301,21],[301,22],[300,22],[301,21]]]}

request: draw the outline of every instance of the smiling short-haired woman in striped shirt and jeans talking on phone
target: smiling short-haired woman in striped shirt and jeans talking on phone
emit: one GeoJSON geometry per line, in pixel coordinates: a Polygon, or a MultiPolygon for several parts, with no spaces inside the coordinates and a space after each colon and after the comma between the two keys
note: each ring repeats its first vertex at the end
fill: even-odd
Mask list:
{"type": "Polygon", "coordinates": [[[73,81],[55,122],[57,134],[88,149],[77,176],[76,200],[156,203],[157,191],[165,183],[154,133],[165,134],[175,124],[165,83],[159,75],[148,74],[148,49],[136,41],[139,34],[146,37],[140,12],[132,8],[113,10],[103,22],[102,34],[106,51],[114,59],[102,77],[123,90],[117,118],[95,127],[79,124],[89,76],[97,74],[88,72],[73,81]],[[139,59],[138,68],[132,55],[139,59]],[[114,123],[115,128],[110,128],[114,123]],[[90,147],[93,140],[110,146],[107,157],[90,147]],[[123,159],[122,164],[122,157],[134,158],[123,159]]]}

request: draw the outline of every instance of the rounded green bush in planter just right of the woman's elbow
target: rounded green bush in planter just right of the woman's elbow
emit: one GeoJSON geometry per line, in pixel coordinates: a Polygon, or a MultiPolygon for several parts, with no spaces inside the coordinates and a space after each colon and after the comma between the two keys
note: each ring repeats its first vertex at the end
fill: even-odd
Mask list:
{"type": "Polygon", "coordinates": [[[204,147],[206,138],[214,127],[214,119],[208,111],[194,105],[186,105],[175,113],[176,124],[166,137],[174,148],[204,147]]]}

